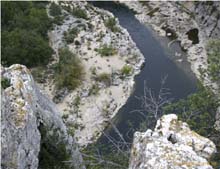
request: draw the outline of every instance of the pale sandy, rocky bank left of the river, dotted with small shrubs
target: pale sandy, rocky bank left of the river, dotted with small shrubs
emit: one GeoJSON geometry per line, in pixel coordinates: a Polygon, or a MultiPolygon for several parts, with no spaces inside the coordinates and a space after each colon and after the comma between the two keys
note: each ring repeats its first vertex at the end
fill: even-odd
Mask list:
{"type": "Polygon", "coordinates": [[[106,21],[114,17],[110,12],[86,2],[63,2],[59,5],[65,18],[61,25],[56,25],[49,32],[51,46],[55,51],[51,65],[59,60],[58,49],[68,47],[81,60],[85,76],[82,85],[74,91],[58,91],[52,76],[48,76],[50,78],[46,83],[39,85],[56,102],[78,144],[86,146],[102,134],[108,121],[126,103],[133,91],[134,76],[140,72],[144,57],[117,19],[117,31],[106,26],[106,21]],[[88,19],[71,15],[64,9],[68,7],[84,10],[88,19]],[[79,29],[74,41],[66,43],[65,32],[79,27],[82,29],[79,29]],[[99,50],[104,46],[111,47],[115,52],[102,56],[99,50]],[[125,67],[129,68],[127,74],[123,74],[125,67]],[[109,78],[109,84],[97,80],[103,75],[109,78]]]}

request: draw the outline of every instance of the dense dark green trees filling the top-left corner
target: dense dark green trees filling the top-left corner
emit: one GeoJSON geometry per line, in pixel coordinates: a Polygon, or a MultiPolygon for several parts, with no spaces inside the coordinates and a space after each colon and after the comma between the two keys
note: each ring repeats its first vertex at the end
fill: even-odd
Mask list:
{"type": "Polygon", "coordinates": [[[46,65],[52,54],[47,31],[51,21],[44,2],[6,2],[2,10],[2,63],[46,65]]]}

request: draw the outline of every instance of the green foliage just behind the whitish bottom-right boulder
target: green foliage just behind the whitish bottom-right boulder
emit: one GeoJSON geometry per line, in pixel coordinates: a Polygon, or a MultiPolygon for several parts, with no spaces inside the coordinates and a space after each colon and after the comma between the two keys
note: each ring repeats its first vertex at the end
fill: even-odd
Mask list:
{"type": "Polygon", "coordinates": [[[199,86],[198,92],[165,106],[164,112],[175,113],[189,124],[197,133],[208,136],[214,132],[215,113],[219,106],[218,100],[210,89],[199,86]]]}

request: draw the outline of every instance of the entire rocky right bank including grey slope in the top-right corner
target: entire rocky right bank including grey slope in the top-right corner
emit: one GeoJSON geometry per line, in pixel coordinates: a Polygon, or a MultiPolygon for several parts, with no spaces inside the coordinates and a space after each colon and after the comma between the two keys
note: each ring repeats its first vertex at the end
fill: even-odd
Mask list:
{"type": "MultiPolygon", "coordinates": [[[[207,73],[204,74],[208,68],[206,46],[210,39],[220,37],[217,17],[220,6],[217,3],[212,6],[193,2],[119,2],[133,10],[136,18],[146,26],[151,26],[159,36],[170,38],[168,47],[179,42],[187,53],[187,60],[196,77],[219,97],[219,84],[213,82],[207,73]]],[[[215,117],[217,130],[218,110],[215,117]]]]}

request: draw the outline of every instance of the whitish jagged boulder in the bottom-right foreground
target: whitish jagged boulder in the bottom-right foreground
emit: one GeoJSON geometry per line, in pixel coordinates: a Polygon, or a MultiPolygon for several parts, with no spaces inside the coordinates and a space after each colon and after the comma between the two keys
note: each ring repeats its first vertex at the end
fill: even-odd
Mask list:
{"type": "Polygon", "coordinates": [[[191,131],[175,114],[164,115],[155,130],[136,132],[129,169],[211,169],[212,141],[191,131]]]}

